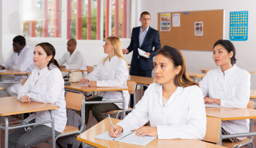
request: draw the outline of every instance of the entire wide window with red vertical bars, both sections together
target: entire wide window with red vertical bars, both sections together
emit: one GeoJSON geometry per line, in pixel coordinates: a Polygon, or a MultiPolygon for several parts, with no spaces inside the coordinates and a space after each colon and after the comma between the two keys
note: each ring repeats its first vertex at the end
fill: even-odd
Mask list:
{"type": "Polygon", "coordinates": [[[23,0],[23,35],[65,39],[129,38],[128,2],[131,1],[23,0]],[[67,9],[62,10],[62,2],[67,4],[64,5],[67,9]],[[61,19],[61,12],[67,13],[63,18],[66,20],[61,19]],[[62,25],[67,25],[67,31],[61,30],[62,25]]]}

